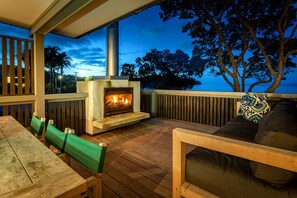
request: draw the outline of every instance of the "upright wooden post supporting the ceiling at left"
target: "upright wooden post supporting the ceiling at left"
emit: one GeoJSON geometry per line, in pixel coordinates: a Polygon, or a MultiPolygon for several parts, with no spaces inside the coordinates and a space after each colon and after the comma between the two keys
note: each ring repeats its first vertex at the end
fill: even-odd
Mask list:
{"type": "Polygon", "coordinates": [[[35,111],[39,117],[45,117],[44,85],[44,35],[34,33],[34,94],[35,111]]]}

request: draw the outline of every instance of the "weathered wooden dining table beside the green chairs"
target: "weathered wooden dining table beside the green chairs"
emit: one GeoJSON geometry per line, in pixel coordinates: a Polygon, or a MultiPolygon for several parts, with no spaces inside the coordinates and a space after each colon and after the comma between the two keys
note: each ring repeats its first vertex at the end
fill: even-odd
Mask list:
{"type": "Polygon", "coordinates": [[[11,116],[0,117],[0,197],[77,197],[84,178],[11,116]]]}

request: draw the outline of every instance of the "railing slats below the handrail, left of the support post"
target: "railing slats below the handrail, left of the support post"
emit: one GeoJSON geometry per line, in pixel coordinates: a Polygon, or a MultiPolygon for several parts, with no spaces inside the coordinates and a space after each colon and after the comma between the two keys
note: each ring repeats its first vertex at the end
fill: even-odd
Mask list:
{"type": "Polygon", "coordinates": [[[11,115],[24,127],[29,127],[34,112],[33,103],[8,104],[0,106],[0,116],[11,115]]]}

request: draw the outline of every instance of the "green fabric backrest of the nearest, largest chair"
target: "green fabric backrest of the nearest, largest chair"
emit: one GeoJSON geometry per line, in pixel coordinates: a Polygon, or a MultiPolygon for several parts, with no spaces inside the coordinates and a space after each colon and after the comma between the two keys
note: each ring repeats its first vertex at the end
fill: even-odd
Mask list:
{"type": "Polygon", "coordinates": [[[68,134],[65,152],[94,173],[102,173],[106,144],[95,144],[71,133],[68,134]]]}

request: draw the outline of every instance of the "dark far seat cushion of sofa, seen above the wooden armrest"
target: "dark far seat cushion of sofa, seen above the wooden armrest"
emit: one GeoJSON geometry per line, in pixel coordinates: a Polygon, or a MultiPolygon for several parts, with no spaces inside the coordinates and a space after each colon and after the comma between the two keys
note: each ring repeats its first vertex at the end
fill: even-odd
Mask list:
{"type": "Polygon", "coordinates": [[[257,130],[258,124],[239,115],[216,130],[213,135],[251,142],[254,140],[257,130]]]}

